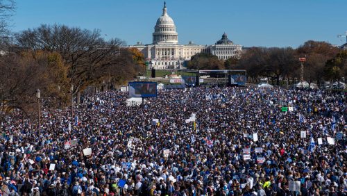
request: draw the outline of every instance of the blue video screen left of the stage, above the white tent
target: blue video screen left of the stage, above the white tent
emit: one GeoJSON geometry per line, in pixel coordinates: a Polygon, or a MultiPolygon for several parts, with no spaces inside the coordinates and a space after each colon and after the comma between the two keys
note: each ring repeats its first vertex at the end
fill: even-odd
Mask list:
{"type": "Polygon", "coordinates": [[[128,83],[129,97],[157,97],[156,82],[128,83]]]}

